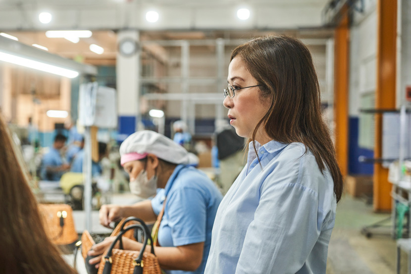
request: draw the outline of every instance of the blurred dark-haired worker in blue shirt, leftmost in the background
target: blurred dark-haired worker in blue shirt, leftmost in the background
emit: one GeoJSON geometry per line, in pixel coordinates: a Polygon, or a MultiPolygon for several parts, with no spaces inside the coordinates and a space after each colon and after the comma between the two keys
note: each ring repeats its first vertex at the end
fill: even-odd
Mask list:
{"type": "Polygon", "coordinates": [[[70,169],[70,165],[61,156],[67,137],[57,134],[49,152],[43,155],[41,178],[46,181],[59,181],[61,175],[70,169]]]}

